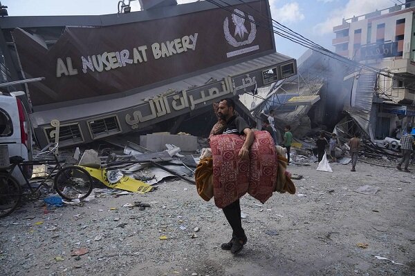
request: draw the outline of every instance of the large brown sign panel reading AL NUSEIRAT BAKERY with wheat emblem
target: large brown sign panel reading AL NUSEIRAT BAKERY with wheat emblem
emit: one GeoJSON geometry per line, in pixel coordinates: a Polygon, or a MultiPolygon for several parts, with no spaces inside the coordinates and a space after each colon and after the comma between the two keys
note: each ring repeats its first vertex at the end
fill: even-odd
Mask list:
{"type": "Polygon", "coordinates": [[[28,83],[33,106],[130,95],[160,81],[275,52],[273,33],[255,25],[259,20],[267,24],[268,1],[229,9],[232,12],[213,8],[113,26],[66,27],[49,48],[15,29],[12,35],[25,77],[46,77],[28,83]]]}

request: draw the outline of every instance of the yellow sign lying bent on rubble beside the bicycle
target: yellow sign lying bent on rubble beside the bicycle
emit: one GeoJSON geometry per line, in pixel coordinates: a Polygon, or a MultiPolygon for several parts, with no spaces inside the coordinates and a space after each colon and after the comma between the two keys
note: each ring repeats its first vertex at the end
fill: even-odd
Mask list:
{"type": "Polygon", "coordinates": [[[129,192],[142,194],[151,192],[151,190],[154,189],[153,186],[147,183],[126,176],[121,177],[121,179],[119,179],[115,183],[111,183],[107,177],[107,170],[102,168],[89,168],[84,166],[82,166],[82,168],[88,171],[91,177],[98,179],[109,188],[116,188],[120,190],[127,190],[129,192]]]}

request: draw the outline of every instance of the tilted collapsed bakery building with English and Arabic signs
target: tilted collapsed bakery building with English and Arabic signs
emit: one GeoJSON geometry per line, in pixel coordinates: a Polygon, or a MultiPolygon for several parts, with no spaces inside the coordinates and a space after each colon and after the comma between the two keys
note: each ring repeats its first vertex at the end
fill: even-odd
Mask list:
{"type": "MultiPolygon", "coordinates": [[[[297,73],[275,50],[267,0],[141,2],[140,12],[0,18],[1,81],[44,77],[8,87],[26,92],[40,146],[56,135],[72,146],[133,131],[206,134],[214,101],[297,73]]],[[[236,109],[252,121],[239,100],[236,109]]]]}

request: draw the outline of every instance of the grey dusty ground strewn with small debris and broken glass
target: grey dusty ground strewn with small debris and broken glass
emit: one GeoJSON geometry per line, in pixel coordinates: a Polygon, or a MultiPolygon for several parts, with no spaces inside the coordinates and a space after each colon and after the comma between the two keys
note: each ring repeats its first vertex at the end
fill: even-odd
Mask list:
{"type": "Polygon", "coordinates": [[[220,248],[231,234],[221,210],[184,181],[47,214],[41,201],[28,202],[0,219],[0,275],[415,275],[414,166],[316,167],[289,167],[304,176],[295,184],[306,197],[276,194],[264,206],[241,199],[248,243],[237,256],[220,248]],[[380,190],[353,192],[362,185],[380,190]],[[122,207],[133,201],[151,208],[122,207]],[[89,253],[71,256],[76,248],[89,253]]]}

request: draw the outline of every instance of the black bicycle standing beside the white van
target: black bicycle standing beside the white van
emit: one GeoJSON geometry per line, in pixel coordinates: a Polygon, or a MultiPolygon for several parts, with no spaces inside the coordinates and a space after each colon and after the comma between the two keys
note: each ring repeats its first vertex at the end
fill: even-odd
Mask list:
{"type": "Polygon", "coordinates": [[[23,193],[19,181],[12,176],[15,168],[18,168],[23,175],[28,186],[28,195],[39,197],[42,187],[48,191],[52,188],[64,199],[84,199],[91,194],[93,180],[91,175],[80,166],[64,166],[64,161],[59,160],[55,155],[58,144],[49,144],[42,149],[33,161],[24,161],[21,157],[10,157],[10,166],[6,170],[0,171],[0,217],[10,215],[21,203],[23,193]],[[45,159],[44,156],[53,155],[53,159],[45,159]],[[53,170],[46,175],[42,181],[30,181],[24,173],[25,166],[33,165],[55,165],[53,170]],[[55,174],[56,172],[56,174],[55,174]],[[46,182],[53,177],[53,186],[50,187],[46,182]],[[39,184],[33,188],[31,184],[39,184]]]}

